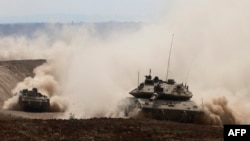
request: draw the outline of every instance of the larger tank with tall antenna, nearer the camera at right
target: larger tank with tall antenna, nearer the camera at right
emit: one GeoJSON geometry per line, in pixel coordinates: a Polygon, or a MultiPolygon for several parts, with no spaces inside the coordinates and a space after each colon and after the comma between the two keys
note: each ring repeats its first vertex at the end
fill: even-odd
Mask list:
{"type": "Polygon", "coordinates": [[[174,79],[163,81],[152,78],[151,70],[145,81],[129,92],[130,109],[139,108],[144,117],[178,122],[196,122],[203,115],[203,108],[191,100],[189,86],[174,79]]]}

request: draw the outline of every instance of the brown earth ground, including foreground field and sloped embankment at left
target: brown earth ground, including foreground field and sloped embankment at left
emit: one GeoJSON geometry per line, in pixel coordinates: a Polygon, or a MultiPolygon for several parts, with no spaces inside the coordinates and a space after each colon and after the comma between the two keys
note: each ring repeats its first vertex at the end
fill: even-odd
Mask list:
{"type": "Polygon", "coordinates": [[[16,83],[32,76],[35,66],[44,60],[0,62],[0,137],[10,140],[223,140],[218,126],[175,123],[153,119],[93,118],[58,119],[62,113],[27,113],[3,110],[16,83]]]}

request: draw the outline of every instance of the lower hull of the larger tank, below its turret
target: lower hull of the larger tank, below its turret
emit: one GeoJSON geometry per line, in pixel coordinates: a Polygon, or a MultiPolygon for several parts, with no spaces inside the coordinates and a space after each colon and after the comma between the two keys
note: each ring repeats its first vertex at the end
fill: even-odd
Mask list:
{"type": "Polygon", "coordinates": [[[185,123],[198,123],[204,112],[193,101],[155,100],[134,98],[134,105],[141,109],[146,118],[170,120],[185,123]]]}

